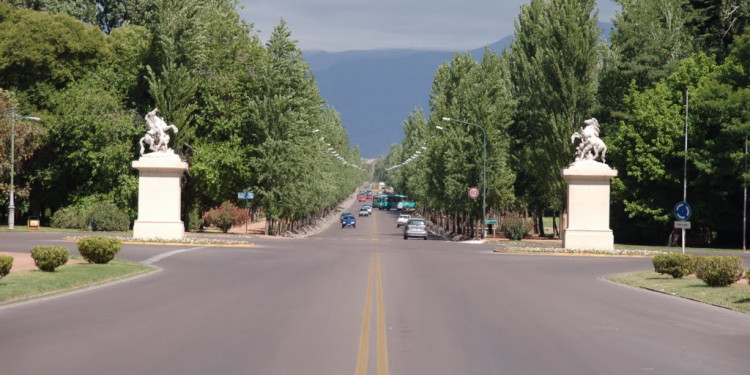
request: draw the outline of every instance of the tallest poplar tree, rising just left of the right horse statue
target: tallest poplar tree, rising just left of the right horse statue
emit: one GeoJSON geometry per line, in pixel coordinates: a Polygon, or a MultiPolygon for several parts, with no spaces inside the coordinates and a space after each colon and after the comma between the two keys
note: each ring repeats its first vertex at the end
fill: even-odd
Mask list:
{"type": "Polygon", "coordinates": [[[536,210],[564,207],[560,171],[573,159],[569,137],[595,105],[602,54],[596,22],[590,0],[533,0],[516,22],[509,56],[518,103],[511,153],[516,191],[536,210]]]}

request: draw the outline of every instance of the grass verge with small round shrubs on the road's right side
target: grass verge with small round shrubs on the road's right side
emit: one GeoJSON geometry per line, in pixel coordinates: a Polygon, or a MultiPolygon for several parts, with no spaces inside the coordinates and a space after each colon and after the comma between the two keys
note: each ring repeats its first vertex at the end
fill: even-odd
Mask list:
{"type": "Polygon", "coordinates": [[[646,288],[750,313],[750,286],[745,284],[714,288],[706,285],[695,276],[673,279],[672,276],[661,275],[654,271],[623,273],[609,276],[607,279],[621,284],[646,288]]]}

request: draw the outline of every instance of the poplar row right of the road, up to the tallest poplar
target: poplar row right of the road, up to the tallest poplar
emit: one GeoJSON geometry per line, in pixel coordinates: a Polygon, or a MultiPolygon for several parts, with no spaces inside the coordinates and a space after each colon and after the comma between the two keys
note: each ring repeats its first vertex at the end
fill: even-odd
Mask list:
{"type": "Polygon", "coordinates": [[[481,62],[468,54],[456,54],[435,74],[430,119],[421,112],[412,113],[404,123],[402,146],[392,147],[384,159],[398,166],[417,155],[412,162],[390,169],[388,181],[418,200],[422,212],[445,230],[473,236],[478,233],[482,205],[481,199],[469,198],[467,190],[483,183],[485,135],[481,128],[487,143],[487,204],[502,210],[512,203],[515,176],[509,166],[507,131],[513,107],[502,58],[489,50],[481,62]],[[478,127],[444,122],[443,117],[478,127]]]}

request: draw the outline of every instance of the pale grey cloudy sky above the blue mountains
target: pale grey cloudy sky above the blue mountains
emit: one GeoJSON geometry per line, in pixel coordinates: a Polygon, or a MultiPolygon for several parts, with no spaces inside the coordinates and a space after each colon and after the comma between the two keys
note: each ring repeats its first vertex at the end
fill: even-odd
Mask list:
{"type": "MultiPolygon", "coordinates": [[[[303,51],[480,48],[514,32],[527,0],[241,0],[263,42],[283,17],[303,51]]],[[[619,5],[597,0],[599,21],[619,5]]]]}

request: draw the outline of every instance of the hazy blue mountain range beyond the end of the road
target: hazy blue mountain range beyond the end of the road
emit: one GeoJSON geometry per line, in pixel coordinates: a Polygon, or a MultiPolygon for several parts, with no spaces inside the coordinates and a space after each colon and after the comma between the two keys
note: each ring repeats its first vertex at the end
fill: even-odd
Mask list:
{"type": "MultiPolygon", "coordinates": [[[[612,24],[599,23],[608,39],[612,24]]],[[[500,53],[509,35],[488,45],[500,53]]],[[[479,60],[485,47],[469,52],[479,60]]],[[[402,123],[415,109],[429,114],[429,98],[437,68],[456,51],[372,50],[303,52],[323,99],[339,112],[352,147],[363,158],[385,155],[400,143],[402,123]]]]}

